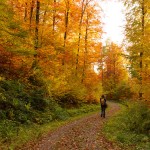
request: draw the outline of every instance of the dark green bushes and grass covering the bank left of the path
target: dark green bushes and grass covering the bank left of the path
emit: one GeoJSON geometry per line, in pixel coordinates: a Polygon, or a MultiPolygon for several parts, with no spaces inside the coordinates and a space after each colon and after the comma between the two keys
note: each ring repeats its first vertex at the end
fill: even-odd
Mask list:
{"type": "Polygon", "coordinates": [[[0,149],[13,149],[40,137],[52,124],[58,126],[62,121],[98,109],[98,105],[84,103],[78,108],[63,108],[47,96],[43,85],[0,81],[0,149]]]}

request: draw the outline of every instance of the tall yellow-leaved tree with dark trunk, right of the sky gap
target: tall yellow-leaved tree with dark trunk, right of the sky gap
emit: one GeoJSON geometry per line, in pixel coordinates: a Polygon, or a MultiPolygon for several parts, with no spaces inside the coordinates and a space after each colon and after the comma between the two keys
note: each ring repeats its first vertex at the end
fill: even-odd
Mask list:
{"type": "MultiPolygon", "coordinates": [[[[146,32],[148,20],[146,19],[149,14],[149,1],[148,0],[126,0],[126,38],[128,40],[127,50],[130,55],[131,71],[133,77],[138,79],[139,85],[139,98],[143,98],[144,93],[144,76],[145,76],[145,59],[147,55],[146,39],[149,34],[146,32]],[[133,17],[134,16],[134,17],[133,17]],[[139,65],[137,65],[139,64],[139,65]]],[[[148,48],[149,49],[149,48],[148,48]]]]}

